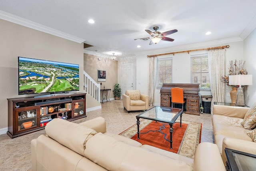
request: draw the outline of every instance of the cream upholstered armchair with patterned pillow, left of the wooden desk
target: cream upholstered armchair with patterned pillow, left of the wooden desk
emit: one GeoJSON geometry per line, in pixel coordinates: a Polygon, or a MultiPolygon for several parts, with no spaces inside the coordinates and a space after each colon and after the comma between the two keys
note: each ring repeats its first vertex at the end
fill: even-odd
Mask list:
{"type": "Polygon", "coordinates": [[[149,96],[140,93],[140,90],[126,90],[123,94],[124,109],[128,111],[148,110],[149,96]]]}

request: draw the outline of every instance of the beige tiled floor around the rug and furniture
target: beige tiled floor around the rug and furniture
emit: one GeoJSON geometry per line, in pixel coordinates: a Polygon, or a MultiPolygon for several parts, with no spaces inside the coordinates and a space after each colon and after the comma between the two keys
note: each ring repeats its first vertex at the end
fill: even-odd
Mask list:
{"type": "MultiPolygon", "coordinates": [[[[106,119],[107,131],[121,133],[125,129],[136,123],[136,115],[140,112],[127,113],[124,110],[121,100],[104,102],[102,109],[86,112],[87,117],[76,120],[80,123],[98,116],[106,119]]],[[[201,142],[214,142],[212,131],[212,120],[210,114],[200,116],[183,114],[182,120],[202,123],[201,142]]],[[[0,135],[0,171],[30,171],[31,152],[30,141],[35,139],[45,131],[37,131],[11,139],[7,134],[0,135]]]]}

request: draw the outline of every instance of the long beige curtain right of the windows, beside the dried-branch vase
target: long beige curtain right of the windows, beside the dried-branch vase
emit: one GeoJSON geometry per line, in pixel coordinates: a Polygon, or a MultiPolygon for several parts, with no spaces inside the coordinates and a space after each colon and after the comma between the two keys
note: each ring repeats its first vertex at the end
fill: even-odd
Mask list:
{"type": "Polygon", "coordinates": [[[212,111],[214,101],[224,102],[225,100],[225,83],[221,82],[221,76],[225,75],[226,50],[208,50],[208,64],[210,74],[210,85],[212,91],[212,111]]]}

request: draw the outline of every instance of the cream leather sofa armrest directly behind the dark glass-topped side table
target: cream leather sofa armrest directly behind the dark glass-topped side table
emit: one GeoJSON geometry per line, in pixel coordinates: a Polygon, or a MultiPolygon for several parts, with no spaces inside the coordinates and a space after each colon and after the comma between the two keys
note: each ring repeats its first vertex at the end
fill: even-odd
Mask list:
{"type": "Polygon", "coordinates": [[[237,151],[242,151],[245,153],[250,153],[256,155],[256,143],[253,141],[246,141],[243,139],[229,138],[226,137],[222,141],[222,160],[226,165],[227,157],[225,155],[225,148],[234,149],[237,151]]]}

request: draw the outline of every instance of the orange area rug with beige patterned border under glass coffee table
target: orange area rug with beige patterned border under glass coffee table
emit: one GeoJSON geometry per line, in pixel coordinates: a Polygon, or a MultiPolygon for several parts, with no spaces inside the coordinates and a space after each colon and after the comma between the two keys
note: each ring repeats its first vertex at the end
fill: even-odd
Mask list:
{"type": "Polygon", "coordinates": [[[202,123],[182,121],[182,127],[180,127],[180,123],[174,123],[172,126],[172,149],[170,149],[170,142],[164,139],[164,134],[156,131],[159,130],[160,126],[162,127],[163,124],[165,128],[161,131],[166,134],[166,139],[170,140],[169,124],[147,119],[140,121],[140,139],[138,139],[137,135],[137,124],[126,129],[120,133],[120,135],[134,139],[142,143],[142,145],[152,145],[166,151],[194,158],[196,147],[201,140],[202,123]],[[145,133],[147,131],[149,132],[145,133]]]}

